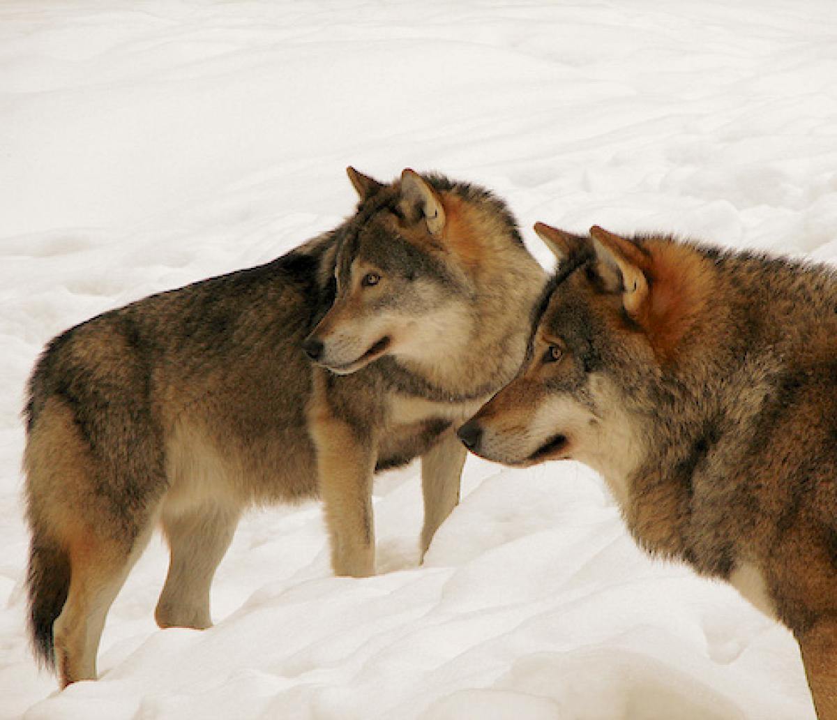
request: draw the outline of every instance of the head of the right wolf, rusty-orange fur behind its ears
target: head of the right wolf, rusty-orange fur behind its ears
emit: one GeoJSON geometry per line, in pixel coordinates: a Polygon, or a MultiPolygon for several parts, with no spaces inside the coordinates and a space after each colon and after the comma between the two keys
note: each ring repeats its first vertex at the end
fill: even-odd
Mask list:
{"type": "Polygon", "coordinates": [[[624,477],[648,446],[666,368],[709,306],[706,257],[662,237],[535,229],[559,264],[533,315],[526,360],[460,439],[506,465],[575,459],[624,477]]]}

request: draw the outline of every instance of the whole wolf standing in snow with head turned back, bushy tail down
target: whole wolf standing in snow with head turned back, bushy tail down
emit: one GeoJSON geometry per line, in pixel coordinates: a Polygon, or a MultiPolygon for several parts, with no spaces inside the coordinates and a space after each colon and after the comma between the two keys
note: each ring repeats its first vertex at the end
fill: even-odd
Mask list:
{"type": "Polygon", "coordinates": [[[356,212],[265,265],[105,312],[28,383],[30,633],[62,687],[94,679],[110,604],[157,525],[160,627],[211,625],[253,504],[320,497],[338,575],[375,568],[372,477],[421,458],[421,551],[459,501],[455,429],[511,380],[546,274],[499,198],[351,167],[356,212]]]}

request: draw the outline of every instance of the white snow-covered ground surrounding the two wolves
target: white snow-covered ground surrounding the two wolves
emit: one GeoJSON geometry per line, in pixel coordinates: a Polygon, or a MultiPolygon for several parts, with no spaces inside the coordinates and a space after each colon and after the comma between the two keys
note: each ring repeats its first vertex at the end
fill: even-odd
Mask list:
{"type": "Polygon", "coordinates": [[[0,717],[813,717],[798,649],[654,563],[579,465],[470,458],[417,564],[418,470],[377,482],[381,573],[319,507],[254,512],[212,630],[157,630],[155,541],[101,680],[24,635],[23,384],[64,327],[280,255],[352,211],[348,164],[439,169],[535,220],[837,260],[833,0],[0,4],[0,717]]]}

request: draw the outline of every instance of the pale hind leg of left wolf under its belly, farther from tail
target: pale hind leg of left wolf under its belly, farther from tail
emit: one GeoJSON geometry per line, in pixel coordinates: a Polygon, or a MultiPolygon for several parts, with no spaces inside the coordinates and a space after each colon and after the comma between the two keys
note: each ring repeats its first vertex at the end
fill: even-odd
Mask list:
{"type": "Polygon", "coordinates": [[[204,505],[177,516],[163,513],[172,558],[154,611],[157,625],[195,630],[212,625],[209,588],[238,522],[238,507],[204,505]]]}

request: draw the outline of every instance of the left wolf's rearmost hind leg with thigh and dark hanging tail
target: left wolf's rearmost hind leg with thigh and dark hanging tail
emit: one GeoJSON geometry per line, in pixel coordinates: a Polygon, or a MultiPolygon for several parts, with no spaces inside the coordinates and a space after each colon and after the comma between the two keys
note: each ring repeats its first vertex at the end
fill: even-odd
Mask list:
{"type": "Polygon", "coordinates": [[[82,426],[76,409],[50,397],[28,429],[30,631],[62,687],[95,679],[105,617],[151,536],[164,485],[153,434],[117,410],[82,426]],[[126,427],[130,453],[118,436],[126,427]]]}

